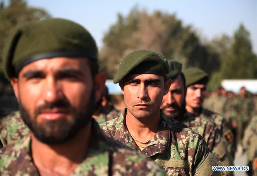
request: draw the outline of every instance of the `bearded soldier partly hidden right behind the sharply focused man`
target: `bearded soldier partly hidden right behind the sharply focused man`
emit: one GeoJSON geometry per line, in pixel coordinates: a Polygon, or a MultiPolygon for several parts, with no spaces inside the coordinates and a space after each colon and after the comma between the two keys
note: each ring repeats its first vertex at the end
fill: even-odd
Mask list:
{"type": "MultiPolygon", "coordinates": [[[[205,117],[188,113],[185,109],[186,102],[186,81],[181,72],[182,64],[176,60],[168,61],[170,71],[168,78],[172,79],[172,84],[168,94],[163,96],[161,109],[170,118],[176,119],[183,124],[197,130],[205,139],[210,150],[214,152],[219,160],[220,166],[233,166],[233,159],[227,152],[227,141],[222,138],[217,126],[205,117]]],[[[223,175],[230,175],[233,172],[222,171],[223,175]]]]}

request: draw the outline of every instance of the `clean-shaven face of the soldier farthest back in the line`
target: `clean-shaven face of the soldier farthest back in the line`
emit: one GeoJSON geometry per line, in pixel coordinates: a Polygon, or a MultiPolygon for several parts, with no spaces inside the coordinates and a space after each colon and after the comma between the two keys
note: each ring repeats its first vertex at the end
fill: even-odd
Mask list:
{"type": "Polygon", "coordinates": [[[206,94],[206,85],[193,84],[187,87],[186,106],[193,109],[201,108],[206,94]]]}

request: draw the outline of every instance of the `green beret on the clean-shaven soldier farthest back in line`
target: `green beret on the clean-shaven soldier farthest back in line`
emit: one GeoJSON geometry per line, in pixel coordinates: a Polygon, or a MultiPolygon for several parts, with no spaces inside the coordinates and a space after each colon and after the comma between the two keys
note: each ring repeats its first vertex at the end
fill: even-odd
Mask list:
{"type": "Polygon", "coordinates": [[[186,87],[192,84],[207,84],[209,81],[208,74],[199,68],[188,68],[183,73],[186,78],[186,87]]]}

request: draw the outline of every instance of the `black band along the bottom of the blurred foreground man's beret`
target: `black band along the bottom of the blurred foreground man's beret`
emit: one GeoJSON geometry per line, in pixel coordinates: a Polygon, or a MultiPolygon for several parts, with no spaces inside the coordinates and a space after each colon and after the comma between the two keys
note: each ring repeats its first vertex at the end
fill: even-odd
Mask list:
{"type": "Polygon", "coordinates": [[[31,62],[34,62],[34,61],[40,60],[40,59],[45,59],[45,58],[53,58],[53,57],[87,57],[87,58],[97,61],[96,54],[87,53],[87,52],[78,52],[78,51],[47,52],[47,53],[36,54],[34,56],[31,56],[31,57],[21,61],[19,63],[19,65],[17,65],[17,67],[15,68],[15,74],[18,75],[21,68],[23,68],[23,66],[25,66],[31,62]]]}

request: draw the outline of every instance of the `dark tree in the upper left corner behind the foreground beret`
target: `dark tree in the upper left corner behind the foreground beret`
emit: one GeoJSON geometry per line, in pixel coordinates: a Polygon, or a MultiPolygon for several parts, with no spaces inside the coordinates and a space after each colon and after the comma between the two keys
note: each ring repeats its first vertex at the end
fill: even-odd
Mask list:
{"type": "MultiPolygon", "coordinates": [[[[8,6],[1,1],[0,17],[0,83],[8,84],[2,65],[3,46],[7,36],[20,23],[38,21],[50,17],[50,15],[44,9],[29,7],[23,0],[10,0],[8,6]]],[[[1,87],[3,86],[0,84],[0,89],[1,87]]]]}

